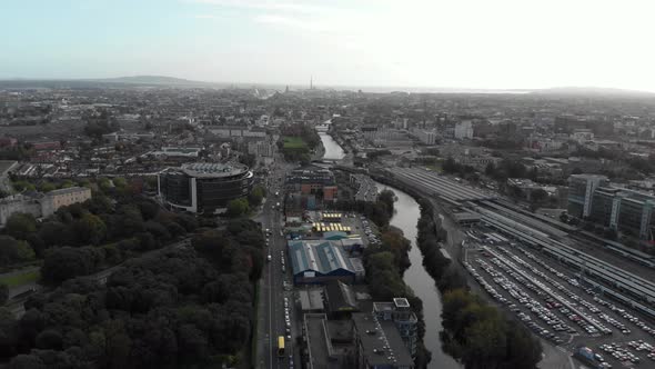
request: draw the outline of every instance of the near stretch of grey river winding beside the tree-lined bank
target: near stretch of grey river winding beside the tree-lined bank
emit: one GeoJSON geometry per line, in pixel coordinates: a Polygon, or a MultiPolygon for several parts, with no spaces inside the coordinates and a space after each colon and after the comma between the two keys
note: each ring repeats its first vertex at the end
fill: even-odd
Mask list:
{"type": "Polygon", "coordinates": [[[419,203],[407,193],[397,190],[393,187],[375,182],[377,189],[391,189],[397,197],[394,203],[395,213],[391,218],[391,225],[400,228],[405,238],[412,242],[410,250],[410,260],[412,266],[405,271],[403,280],[407,286],[414,290],[414,293],[423,301],[423,318],[425,320],[425,337],[423,342],[425,347],[432,351],[432,361],[427,365],[431,369],[461,369],[455,359],[445,353],[441,348],[441,340],[439,332],[442,329],[441,325],[441,295],[434,286],[434,280],[423,268],[423,256],[416,246],[416,225],[421,217],[419,203]]]}

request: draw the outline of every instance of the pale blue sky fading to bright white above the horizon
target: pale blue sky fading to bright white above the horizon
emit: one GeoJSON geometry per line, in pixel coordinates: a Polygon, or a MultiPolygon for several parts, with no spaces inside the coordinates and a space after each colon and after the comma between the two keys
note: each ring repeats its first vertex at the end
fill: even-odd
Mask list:
{"type": "Polygon", "coordinates": [[[0,0],[0,79],[655,92],[652,0],[0,0]]]}

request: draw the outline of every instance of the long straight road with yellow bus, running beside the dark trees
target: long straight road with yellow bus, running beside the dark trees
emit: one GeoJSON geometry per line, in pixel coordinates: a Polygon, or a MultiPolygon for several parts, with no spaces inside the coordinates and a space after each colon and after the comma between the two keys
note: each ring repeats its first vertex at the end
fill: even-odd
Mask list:
{"type": "Polygon", "coordinates": [[[263,210],[256,218],[264,229],[269,229],[268,255],[271,261],[264,267],[263,278],[260,281],[260,301],[258,306],[258,368],[293,368],[298,367],[299,349],[295,347],[295,337],[299,337],[301,329],[295,319],[295,309],[291,289],[285,290],[284,282],[291,286],[291,265],[286,257],[286,240],[282,236],[283,216],[276,203],[283,202],[284,193],[282,183],[284,173],[292,168],[291,164],[278,159],[270,168],[268,178],[268,196],[263,210]],[[279,196],[275,193],[279,192],[279,196]],[[284,259],[284,261],[283,261],[284,259]],[[285,271],[282,271],[284,262],[285,271]],[[286,337],[286,323],[284,321],[284,298],[291,306],[291,340],[286,337]],[[278,338],[285,338],[285,355],[278,357],[278,338]],[[293,357],[293,365],[290,363],[289,355],[293,357]]]}

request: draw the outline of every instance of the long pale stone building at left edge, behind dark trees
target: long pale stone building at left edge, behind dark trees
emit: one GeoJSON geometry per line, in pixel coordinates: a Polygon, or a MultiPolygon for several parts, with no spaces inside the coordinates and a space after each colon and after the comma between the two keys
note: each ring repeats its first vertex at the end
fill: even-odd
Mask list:
{"type": "Polygon", "coordinates": [[[14,195],[0,199],[0,227],[16,212],[32,215],[34,218],[52,216],[59,208],[84,202],[91,198],[91,190],[85,187],[70,187],[48,193],[31,192],[14,195]]]}

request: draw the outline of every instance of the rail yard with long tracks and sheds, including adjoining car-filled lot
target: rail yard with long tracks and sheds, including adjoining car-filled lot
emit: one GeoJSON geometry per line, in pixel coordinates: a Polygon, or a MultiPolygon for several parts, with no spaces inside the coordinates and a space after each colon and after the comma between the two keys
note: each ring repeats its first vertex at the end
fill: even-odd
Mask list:
{"type": "Polygon", "coordinates": [[[535,336],[570,353],[588,347],[598,368],[655,367],[655,258],[457,179],[413,168],[392,176],[446,212],[480,215],[460,261],[535,336]]]}

